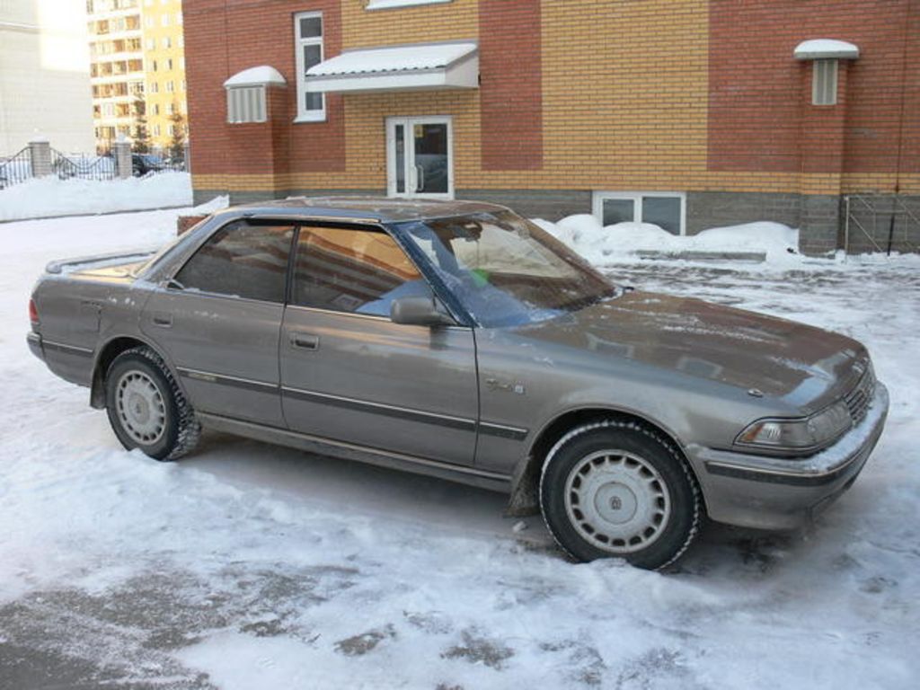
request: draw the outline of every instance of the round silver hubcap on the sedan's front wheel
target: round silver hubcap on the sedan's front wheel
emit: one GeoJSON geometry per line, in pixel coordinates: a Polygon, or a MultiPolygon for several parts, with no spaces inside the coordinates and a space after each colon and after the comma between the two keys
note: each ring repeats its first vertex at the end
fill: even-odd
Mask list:
{"type": "Polygon", "coordinates": [[[566,479],[565,502],[579,535],[611,554],[649,546],[671,517],[671,496],[661,474],[626,451],[581,458],[566,479]]]}

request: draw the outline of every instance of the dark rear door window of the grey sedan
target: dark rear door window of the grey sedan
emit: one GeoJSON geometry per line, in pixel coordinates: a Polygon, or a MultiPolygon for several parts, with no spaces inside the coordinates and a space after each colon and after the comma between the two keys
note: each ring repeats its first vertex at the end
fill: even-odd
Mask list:
{"type": "Polygon", "coordinates": [[[281,303],[292,241],[293,225],[227,224],[195,252],[176,280],[185,290],[281,303]]]}

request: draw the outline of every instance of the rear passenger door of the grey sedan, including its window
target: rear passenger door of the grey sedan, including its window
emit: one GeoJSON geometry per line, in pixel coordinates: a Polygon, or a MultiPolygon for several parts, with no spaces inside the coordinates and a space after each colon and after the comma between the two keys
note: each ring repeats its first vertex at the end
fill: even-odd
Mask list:
{"type": "Polygon", "coordinates": [[[292,224],[227,224],[144,306],[144,334],[199,412],[284,427],[278,342],[293,235],[292,224]]]}

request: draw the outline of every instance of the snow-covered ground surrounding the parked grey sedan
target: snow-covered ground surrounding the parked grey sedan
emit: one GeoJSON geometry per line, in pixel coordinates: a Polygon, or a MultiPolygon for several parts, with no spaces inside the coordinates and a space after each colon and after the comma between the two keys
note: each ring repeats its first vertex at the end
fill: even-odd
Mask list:
{"type": "Polygon", "coordinates": [[[123,451],[29,354],[29,290],[49,259],[164,241],[177,214],[0,225],[0,688],[916,686],[915,258],[602,253],[622,282],[862,339],[891,389],[813,530],[710,527],[661,574],[569,563],[538,519],[442,481],[220,434],[176,464],[123,451]]]}

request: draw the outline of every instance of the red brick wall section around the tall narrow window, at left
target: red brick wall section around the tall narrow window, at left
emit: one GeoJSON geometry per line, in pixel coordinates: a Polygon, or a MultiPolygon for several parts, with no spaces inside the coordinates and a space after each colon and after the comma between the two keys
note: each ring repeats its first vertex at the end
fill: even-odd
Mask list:
{"type": "Polygon", "coordinates": [[[327,55],[336,55],[341,51],[339,7],[338,0],[184,0],[195,173],[345,169],[345,123],[339,96],[327,97],[326,122],[292,124],[297,112],[293,15],[322,11],[324,49],[327,55]],[[224,80],[260,64],[270,64],[287,80],[282,96],[272,96],[272,107],[284,109],[285,114],[273,118],[273,128],[227,124],[224,80]]]}

